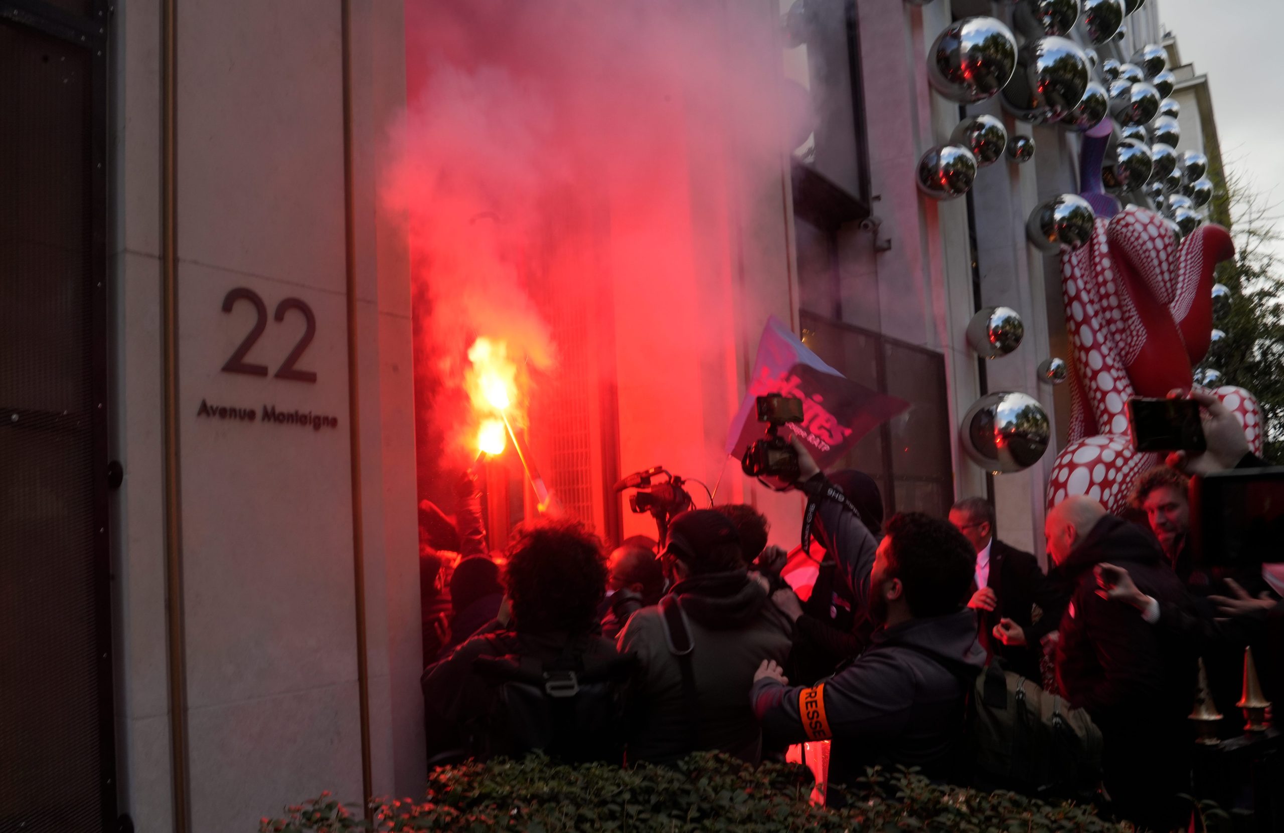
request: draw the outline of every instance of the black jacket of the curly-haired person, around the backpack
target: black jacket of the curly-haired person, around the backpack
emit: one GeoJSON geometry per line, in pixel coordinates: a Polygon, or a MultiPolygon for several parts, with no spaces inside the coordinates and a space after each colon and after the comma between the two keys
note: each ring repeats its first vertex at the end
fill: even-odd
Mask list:
{"type": "Polygon", "coordinates": [[[520,656],[552,662],[568,643],[583,640],[584,660],[602,664],[618,657],[615,644],[594,634],[517,633],[492,623],[439,662],[424,670],[424,728],[429,766],[451,764],[485,747],[482,733],[496,705],[497,689],[474,667],[478,657],[520,656]]]}

